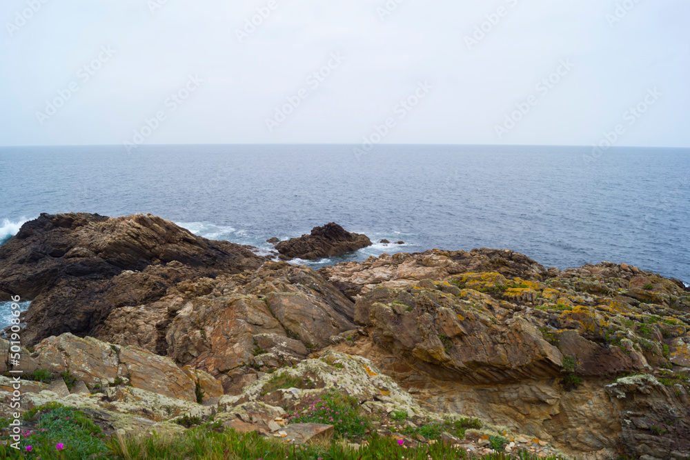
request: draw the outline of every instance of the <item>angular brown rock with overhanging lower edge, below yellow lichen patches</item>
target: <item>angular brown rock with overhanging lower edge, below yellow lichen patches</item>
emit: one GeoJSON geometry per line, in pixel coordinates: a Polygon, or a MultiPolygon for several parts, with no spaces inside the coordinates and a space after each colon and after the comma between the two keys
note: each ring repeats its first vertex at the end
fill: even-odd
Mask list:
{"type": "Polygon", "coordinates": [[[437,379],[495,383],[560,374],[562,354],[538,328],[520,317],[499,326],[491,317],[487,308],[426,288],[375,288],[355,303],[355,320],[374,343],[437,379]]]}

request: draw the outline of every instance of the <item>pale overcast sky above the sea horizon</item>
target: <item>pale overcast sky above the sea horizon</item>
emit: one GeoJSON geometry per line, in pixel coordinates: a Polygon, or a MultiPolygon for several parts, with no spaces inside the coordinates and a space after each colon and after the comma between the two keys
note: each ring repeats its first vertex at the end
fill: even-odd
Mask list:
{"type": "Polygon", "coordinates": [[[0,146],[690,147],[687,0],[3,0],[0,146]]]}

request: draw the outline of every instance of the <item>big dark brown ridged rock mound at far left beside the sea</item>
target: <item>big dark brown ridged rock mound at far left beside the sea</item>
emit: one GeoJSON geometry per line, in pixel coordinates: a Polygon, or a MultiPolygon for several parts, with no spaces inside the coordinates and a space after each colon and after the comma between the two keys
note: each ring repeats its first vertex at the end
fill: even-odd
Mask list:
{"type": "Polygon", "coordinates": [[[22,341],[88,334],[115,308],[163,297],[184,279],[237,273],[264,261],[151,214],[41,214],[0,246],[0,300],[32,300],[22,341]],[[166,265],[167,264],[167,265],[166,265]]]}

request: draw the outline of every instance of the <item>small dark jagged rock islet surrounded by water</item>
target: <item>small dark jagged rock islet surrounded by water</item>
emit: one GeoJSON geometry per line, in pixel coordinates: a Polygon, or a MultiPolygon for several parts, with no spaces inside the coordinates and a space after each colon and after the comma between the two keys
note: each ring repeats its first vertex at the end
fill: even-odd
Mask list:
{"type": "Polygon", "coordinates": [[[315,260],[339,256],[367,246],[371,246],[371,241],[366,235],[347,232],[331,222],[323,227],[314,227],[311,234],[281,241],[275,248],[286,257],[315,260]]]}

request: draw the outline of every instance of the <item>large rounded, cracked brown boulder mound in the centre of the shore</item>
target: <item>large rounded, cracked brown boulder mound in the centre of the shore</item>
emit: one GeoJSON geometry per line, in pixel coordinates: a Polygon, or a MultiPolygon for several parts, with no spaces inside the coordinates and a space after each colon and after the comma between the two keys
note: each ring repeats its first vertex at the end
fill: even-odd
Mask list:
{"type": "MultiPolygon", "coordinates": [[[[291,366],[309,348],[328,346],[331,336],[356,328],[353,303],[310,268],[267,262],[257,272],[205,283],[178,286],[184,292],[170,294],[164,313],[157,306],[143,311],[166,324],[169,357],[206,370],[226,392],[253,381],[257,368],[291,366]]],[[[120,309],[113,315],[122,312],[131,318],[142,314],[120,309]]],[[[113,332],[103,329],[108,337],[121,337],[113,332]]]]}

